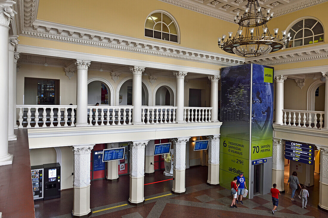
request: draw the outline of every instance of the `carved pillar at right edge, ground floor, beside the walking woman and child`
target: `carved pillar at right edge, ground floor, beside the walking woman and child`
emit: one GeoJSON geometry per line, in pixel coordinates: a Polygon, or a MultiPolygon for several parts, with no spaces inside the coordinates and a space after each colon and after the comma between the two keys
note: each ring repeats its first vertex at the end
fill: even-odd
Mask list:
{"type": "Polygon", "coordinates": [[[317,145],[320,149],[320,180],[318,208],[328,211],[328,146],[317,145]]]}

